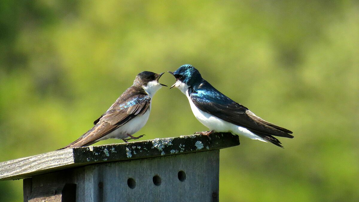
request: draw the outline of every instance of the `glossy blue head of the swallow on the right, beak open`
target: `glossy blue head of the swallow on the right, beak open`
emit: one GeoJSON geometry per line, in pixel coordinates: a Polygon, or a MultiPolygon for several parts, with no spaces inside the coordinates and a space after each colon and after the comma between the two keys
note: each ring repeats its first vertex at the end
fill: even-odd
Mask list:
{"type": "Polygon", "coordinates": [[[191,87],[193,84],[202,80],[200,72],[194,68],[194,66],[189,64],[182,65],[176,71],[169,73],[176,78],[176,83],[174,83],[171,88],[176,87],[184,94],[186,94],[188,87],[191,87]]]}

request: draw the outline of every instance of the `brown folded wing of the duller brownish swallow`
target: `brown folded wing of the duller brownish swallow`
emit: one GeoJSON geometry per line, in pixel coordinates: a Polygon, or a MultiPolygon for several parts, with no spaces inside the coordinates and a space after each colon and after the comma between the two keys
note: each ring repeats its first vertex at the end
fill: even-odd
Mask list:
{"type": "Polygon", "coordinates": [[[119,97],[106,113],[95,120],[92,129],[64,148],[89,146],[136,116],[145,114],[149,109],[151,98],[143,93],[127,94],[130,96],[119,97]]]}

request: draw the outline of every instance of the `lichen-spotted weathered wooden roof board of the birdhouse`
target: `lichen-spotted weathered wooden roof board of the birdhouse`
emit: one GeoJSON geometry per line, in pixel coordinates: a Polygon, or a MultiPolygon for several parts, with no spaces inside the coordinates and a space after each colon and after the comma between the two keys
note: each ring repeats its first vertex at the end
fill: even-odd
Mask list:
{"type": "Polygon", "coordinates": [[[238,136],[213,133],[101,146],[76,147],[0,163],[0,180],[28,178],[70,167],[183,153],[219,150],[239,145],[238,136]]]}

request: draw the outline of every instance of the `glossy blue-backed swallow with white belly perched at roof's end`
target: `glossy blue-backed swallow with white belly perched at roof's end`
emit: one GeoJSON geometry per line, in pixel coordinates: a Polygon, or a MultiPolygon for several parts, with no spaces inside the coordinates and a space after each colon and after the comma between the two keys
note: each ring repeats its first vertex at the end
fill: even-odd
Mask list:
{"type": "Polygon", "coordinates": [[[187,96],[195,117],[211,130],[197,134],[209,137],[213,132],[230,132],[271,142],[282,148],[281,142],[273,136],[293,138],[290,135],[292,131],[261,119],[247,107],[223,95],[203,79],[192,65],[182,65],[175,72],[169,73],[176,78],[171,88],[177,87],[187,96]]]}

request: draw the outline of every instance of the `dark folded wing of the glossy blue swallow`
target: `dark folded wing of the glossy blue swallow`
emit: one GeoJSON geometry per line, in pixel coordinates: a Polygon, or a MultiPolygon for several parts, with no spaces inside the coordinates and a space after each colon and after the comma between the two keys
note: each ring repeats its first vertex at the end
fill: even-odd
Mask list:
{"type": "MultiPolygon", "coordinates": [[[[219,94],[217,94],[219,95],[219,94]]],[[[245,127],[253,132],[259,132],[268,135],[293,138],[292,131],[271,124],[230,98],[224,96],[203,96],[198,92],[191,93],[192,102],[200,110],[216,116],[224,121],[245,127]]]]}

